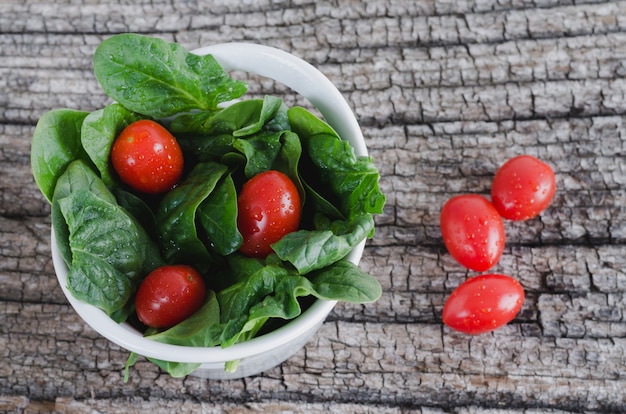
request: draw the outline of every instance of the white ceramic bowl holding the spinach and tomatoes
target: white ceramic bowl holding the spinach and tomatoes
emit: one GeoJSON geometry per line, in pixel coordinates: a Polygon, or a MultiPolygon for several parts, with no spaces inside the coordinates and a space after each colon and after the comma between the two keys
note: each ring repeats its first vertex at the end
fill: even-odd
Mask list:
{"type": "MultiPolygon", "coordinates": [[[[361,129],[349,105],[337,88],[319,70],[302,59],[268,46],[250,43],[225,43],[192,51],[212,54],[224,70],[249,72],[280,82],[307,98],[326,121],[347,139],[357,155],[367,155],[361,129]]],[[[284,326],[250,341],[221,347],[183,347],[162,344],[144,338],[128,323],[117,324],[102,310],[74,298],[67,290],[67,266],[61,258],[54,231],[52,260],[63,293],[76,312],[99,334],[117,345],[140,355],[166,361],[201,363],[192,375],[212,379],[232,379],[254,375],[272,368],[297,352],[319,329],[335,301],[315,301],[303,313],[284,326]],[[240,360],[237,371],[224,371],[228,361],[240,360]]],[[[348,259],[358,264],[365,241],[348,259]]]]}

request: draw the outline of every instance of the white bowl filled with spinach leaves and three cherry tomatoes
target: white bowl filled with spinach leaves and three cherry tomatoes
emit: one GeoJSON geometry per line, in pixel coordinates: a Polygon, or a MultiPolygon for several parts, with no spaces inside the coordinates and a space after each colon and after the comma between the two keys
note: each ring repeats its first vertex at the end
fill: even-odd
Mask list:
{"type": "Polygon", "coordinates": [[[291,356],[337,301],[381,286],[358,263],[385,196],[349,106],[310,64],[229,43],[120,34],[94,54],[112,103],[53,109],[33,135],[55,271],[97,332],[175,377],[236,378],[291,356]],[[246,98],[228,71],[274,79],[246,98]]]}

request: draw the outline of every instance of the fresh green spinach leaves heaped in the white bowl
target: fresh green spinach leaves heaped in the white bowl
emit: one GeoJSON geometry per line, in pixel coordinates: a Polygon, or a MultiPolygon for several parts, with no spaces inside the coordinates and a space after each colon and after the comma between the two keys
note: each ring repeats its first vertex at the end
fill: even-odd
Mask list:
{"type": "MultiPolygon", "coordinates": [[[[302,107],[288,108],[275,96],[241,99],[246,83],[211,55],[175,43],[113,36],[96,49],[94,72],[115,103],[90,113],[45,113],[31,151],[72,295],[155,341],[202,347],[227,347],[295,318],[304,296],[355,303],[380,297],[378,281],[345,260],[373,235],[373,215],[385,203],[371,157],[356,156],[302,107]],[[132,190],[112,167],[116,137],[142,119],[164,126],[184,155],[180,180],[163,194],[132,190]],[[237,194],[268,170],[296,185],[302,220],[260,259],[238,250],[237,194]],[[202,307],[166,330],[141,326],[133,301],[138,286],[152,270],[173,264],[202,275],[202,307]]],[[[128,367],[137,358],[131,354],[128,367]]],[[[151,361],[173,376],[199,366],[151,361]]]]}

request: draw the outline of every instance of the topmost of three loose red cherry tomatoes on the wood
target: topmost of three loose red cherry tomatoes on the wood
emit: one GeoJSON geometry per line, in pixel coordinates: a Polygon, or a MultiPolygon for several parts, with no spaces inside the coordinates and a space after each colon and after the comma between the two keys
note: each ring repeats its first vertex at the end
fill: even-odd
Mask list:
{"type": "Polygon", "coordinates": [[[554,171],[548,164],[530,155],[520,155],[496,172],[491,199],[505,219],[527,220],[548,207],[555,189],[554,171]]]}

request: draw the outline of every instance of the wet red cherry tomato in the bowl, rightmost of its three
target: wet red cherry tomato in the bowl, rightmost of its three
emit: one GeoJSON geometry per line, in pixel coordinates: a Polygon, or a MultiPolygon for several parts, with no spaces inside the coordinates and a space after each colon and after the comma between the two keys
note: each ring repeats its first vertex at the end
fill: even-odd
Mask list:
{"type": "Polygon", "coordinates": [[[248,180],[237,206],[237,227],[243,236],[239,250],[250,257],[266,257],[272,243],[300,225],[298,189],[278,171],[265,171],[248,180]]]}

